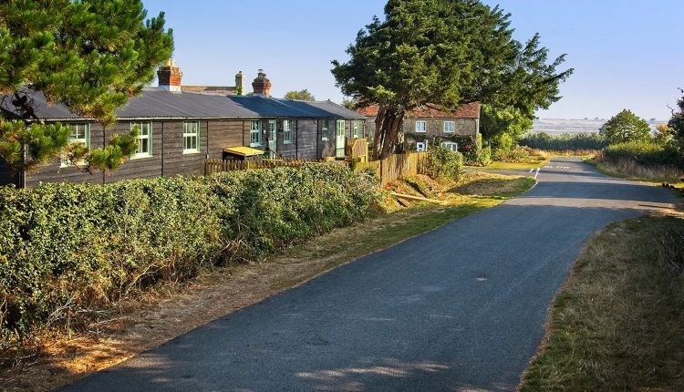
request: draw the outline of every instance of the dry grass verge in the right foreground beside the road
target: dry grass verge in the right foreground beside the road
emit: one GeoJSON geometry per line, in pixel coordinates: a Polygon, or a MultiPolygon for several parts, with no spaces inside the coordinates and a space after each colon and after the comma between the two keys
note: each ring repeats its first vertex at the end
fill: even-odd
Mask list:
{"type": "Polygon", "coordinates": [[[554,300],[521,391],[684,390],[684,220],[597,233],[554,300]]]}

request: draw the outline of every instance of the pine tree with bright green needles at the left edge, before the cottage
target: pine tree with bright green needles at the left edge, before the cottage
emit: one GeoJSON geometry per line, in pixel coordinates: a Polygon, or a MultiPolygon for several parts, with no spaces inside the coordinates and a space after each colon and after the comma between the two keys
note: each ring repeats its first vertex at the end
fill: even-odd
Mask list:
{"type": "Polygon", "coordinates": [[[68,145],[71,130],[41,123],[31,96],[39,92],[108,126],[172,50],[163,13],[147,19],[140,0],[0,2],[0,95],[20,113],[0,117],[0,157],[15,170],[60,154],[88,170],[116,169],[134,152],[135,132],[105,149],[68,145]]]}

